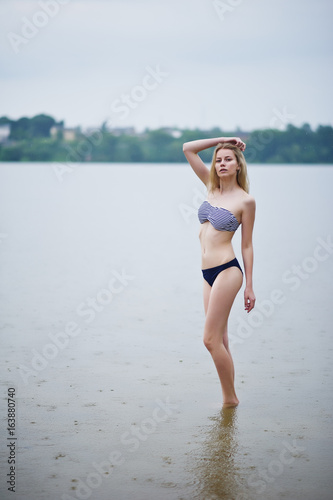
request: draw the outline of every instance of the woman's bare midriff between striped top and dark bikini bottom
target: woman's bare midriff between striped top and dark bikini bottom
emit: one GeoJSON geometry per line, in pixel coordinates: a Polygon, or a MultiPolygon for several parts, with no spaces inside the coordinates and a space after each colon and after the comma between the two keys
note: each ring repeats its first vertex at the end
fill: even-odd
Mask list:
{"type": "Polygon", "coordinates": [[[235,258],[231,244],[234,232],[218,231],[207,221],[201,225],[201,269],[220,266],[235,258]]]}

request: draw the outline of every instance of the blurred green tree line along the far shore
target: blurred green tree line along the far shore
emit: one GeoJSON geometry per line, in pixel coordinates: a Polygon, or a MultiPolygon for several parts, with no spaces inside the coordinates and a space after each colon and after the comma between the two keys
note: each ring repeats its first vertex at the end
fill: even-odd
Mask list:
{"type": "MultiPolygon", "coordinates": [[[[48,115],[10,120],[10,135],[0,144],[0,161],[55,162],[184,162],[184,142],[218,136],[239,136],[246,142],[245,157],[249,163],[333,163],[333,128],[310,125],[288,125],[286,130],[263,129],[252,132],[199,129],[146,129],[140,134],[119,133],[102,125],[98,131],[65,140],[64,122],[48,115]],[[56,132],[51,134],[51,129],[56,132]]],[[[209,163],[212,150],[200,156],[209,163]]]]}

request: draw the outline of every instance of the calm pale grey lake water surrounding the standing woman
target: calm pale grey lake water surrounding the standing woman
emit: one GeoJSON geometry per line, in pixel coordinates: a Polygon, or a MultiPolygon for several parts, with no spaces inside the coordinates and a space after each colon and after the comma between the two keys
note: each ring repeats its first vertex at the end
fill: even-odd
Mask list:
{"type": "Polygon", "coordinates": [[[257,307],[236,298],[241,405],[221,412],[190,167],[84,164],[61,182],[56,164],[0,165],[17,498],[330,498],[333,168],[249,174],[257,307]]]}

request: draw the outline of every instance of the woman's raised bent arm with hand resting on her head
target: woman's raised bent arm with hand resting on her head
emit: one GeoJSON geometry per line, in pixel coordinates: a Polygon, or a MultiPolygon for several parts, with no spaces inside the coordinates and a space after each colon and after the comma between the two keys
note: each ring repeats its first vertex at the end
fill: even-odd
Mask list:
{"type": "Polygon", "coordinates": [[[215,137],[213,139],[199,139],[198,141],[185,142],[183,144],[184,155],[187,161],[197,174],[199,179],[207,186],[209,180],[209,169],[206,167],[200,156],[199,151],[217,146],[219,143],[231,142],[243,150],[245,144],[238,137],[215,137]]]}

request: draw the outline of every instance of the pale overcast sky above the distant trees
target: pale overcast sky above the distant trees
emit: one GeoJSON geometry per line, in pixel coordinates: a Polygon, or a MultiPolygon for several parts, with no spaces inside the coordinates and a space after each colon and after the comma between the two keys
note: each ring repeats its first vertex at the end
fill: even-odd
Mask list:
{"type": "Polygon", "coordinates": [[[332,14],[332,0],[1,0],[0,115],[332,125],[332,14]]]}

